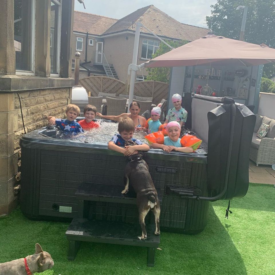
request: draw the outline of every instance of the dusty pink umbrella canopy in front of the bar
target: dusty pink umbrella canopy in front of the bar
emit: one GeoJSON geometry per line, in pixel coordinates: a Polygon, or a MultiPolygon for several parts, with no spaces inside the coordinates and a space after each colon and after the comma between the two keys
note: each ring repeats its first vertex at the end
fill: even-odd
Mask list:
{"type": "Polygon", "coordinates": [[[256,66],[275,62],[275,49],[223,36],[207,35],[146,62],[145,67],[202,64],[256,66]]]}

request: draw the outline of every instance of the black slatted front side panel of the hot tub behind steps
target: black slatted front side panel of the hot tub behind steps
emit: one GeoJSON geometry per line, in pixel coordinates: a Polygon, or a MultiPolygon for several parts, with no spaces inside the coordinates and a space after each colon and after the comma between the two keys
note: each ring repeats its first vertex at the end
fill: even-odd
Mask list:
{"type": "MultiPolygon", "coordinates": [[[[76,217],[78,199],[74,195],[82,182],[124,188],[125,159],[113,154],[93,154],[23,148],[23,213],[30,216],[76,217]],[[36,152],[37,151],[37,152],[36,152]],[[38,152],[39,151],[39,152],[38,152]]],[[[107,150],[107,152],[109,152],[107,150]]],[[[169,231],[202,231],[206,225],[208,203],[167,195],[166,185],[192,186],[206,194],[206,165],[150,158],[146,161],[161,201],[160,226],[169,231]],[[176,172],[171,173],[171,169],[176,172]],[[190,208],[190,209],[189,209],[190,208]]],[[[137,207],[100,201],[90,202],[91,218],[138,222],[137,207]]],[[[192,232],[191,232],[192,233],[192,232]]]]}

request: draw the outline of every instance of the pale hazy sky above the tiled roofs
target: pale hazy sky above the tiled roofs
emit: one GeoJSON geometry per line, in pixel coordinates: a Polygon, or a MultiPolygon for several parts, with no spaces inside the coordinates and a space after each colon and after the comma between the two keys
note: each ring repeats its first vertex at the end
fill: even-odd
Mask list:
{"type": "Polygon", "coordinates": [[[205,17],[211,15],[210,5],[217,3],[216,0],[84,0],[86,6],[86,9],[84,9],[83,5],[77,0],[74,2],[76,11],[84,11],[116,19],[121,19],[142,7],[154,5],[181,23],[205,28],[207,27],[205,17]]]}

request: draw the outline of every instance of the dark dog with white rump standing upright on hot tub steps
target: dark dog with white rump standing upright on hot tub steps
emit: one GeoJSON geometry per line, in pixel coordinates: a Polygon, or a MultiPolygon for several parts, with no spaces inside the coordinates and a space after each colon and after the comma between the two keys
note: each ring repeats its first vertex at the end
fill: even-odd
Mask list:
{"type": "MultiPolygon", "coordinates": [[[[128,140],[125,146],[133,146],[134,142],[128,140]]],[[[129,190],[129,182],[132,184],[137,194],[137,208],[139,221],[142,229],[141,239],[147,238],[144,219],[151,210],[155,215],[156,230],[155,235],[160,235],[160,203],[158,193],[149,173],[148,165],[143,160],[143,152],[139,151],[135,155],[127,157],[127,164],[124,170],[125,188],[121,194],[126,194],[129,190]]]]}

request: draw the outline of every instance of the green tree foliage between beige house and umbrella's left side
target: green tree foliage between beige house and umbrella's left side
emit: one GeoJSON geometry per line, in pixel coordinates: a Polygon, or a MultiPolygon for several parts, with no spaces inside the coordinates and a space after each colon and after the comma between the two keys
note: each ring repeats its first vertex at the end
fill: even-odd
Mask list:
{"type": "MultiPolygon", "coordinates": [[[[178,48],[184,44],[187,44],[188,41],[186,40],[180,40],[180,41],[169,41],[165,40],[167,44],[172,46],[173,48],[178,48]]],[[[165,45],[164,43],[160,43],[160,47],[156,51],[155,54],[152,54],[152,58],[155,58],[157,56],[160,56],[162,54],[165,54],[166,52],[169,52],[171,49],[165,45]]],[[[156,80],[156,81],[162,81],[165,83],[169,83],[170,79],[170,67],[159,67],[159,68],[146,68],[146,71],[148,72],[148,76],[146,80],[156,80]]]]}

